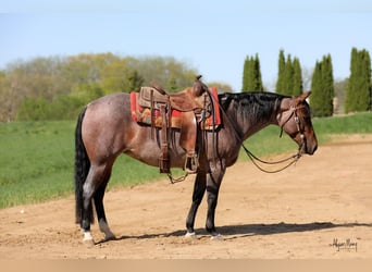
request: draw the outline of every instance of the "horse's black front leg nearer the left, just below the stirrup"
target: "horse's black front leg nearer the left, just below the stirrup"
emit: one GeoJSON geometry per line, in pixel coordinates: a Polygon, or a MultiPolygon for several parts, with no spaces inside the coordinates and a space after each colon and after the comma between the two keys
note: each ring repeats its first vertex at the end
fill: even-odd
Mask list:
{"type": "Polygon", "coordinates": [[[195,217],[197,214],[202,197],[204,196],[206,187],[207,175],[206,173],[198,172],[194,184],[193,203],[186,219],[186,237],[196,237],[194,231],[195,217]]]}

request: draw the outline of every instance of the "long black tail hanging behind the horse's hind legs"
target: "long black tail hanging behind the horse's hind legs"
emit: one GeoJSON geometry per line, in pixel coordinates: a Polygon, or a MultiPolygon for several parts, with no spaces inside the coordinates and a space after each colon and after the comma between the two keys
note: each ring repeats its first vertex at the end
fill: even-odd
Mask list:
{"type": "MultiPolygon", "coordinates": [[[[82,123],[85,116],[87,108],[85,107],[77,119],[77,124],[75,128],[75,214],[76,214],[76,224],[82,223],[83,220],[83,209],[84,209],[84,198],[83,198],[83,186],[85,180],[87,178],[90,161],[87,154],[87,150],[83,143],[82,137],[82,123]]],[[[92,215],[92,207],[90,207],[89,218],[94,219],[92,215]]]]}

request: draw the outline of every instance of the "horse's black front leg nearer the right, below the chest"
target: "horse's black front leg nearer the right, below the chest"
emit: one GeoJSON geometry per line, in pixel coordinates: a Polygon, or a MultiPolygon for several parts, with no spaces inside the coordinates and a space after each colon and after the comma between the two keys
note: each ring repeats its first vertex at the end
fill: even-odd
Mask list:
{"type": "Polygon", "coordinates": [[[207,175],[208,210],[207,210],[206,230],[212,235],[211,238],[221,237],[221,235],[215,231],[214,215],[215,215],[215,208],[218,205],[220,185],[221,185],[224,174],[225,174],[225,168],[218,165],[216,168],[213,168],[211,173],[207,175]]]}

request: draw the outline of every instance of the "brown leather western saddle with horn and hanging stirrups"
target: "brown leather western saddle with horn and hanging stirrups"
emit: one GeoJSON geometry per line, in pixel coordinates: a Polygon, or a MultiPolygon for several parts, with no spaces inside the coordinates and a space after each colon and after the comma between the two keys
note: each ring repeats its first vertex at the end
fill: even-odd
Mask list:
{"type": "Polygon", "coordinates": [[[197,122],[201,122],[207,113],[208,106],[212,102],[207,85],[201,81],[201,75],[197,76],[193,87],[188,87],[176,94],[166,94],[159,86],[142,87],[139,94],[139,104],[150,109],[151,137],[154,137],[156,114],[160,112],[160,144],[161,153],[159,157],[160,173],[171,173],[171,162],[169,154],[170,128],[172,126],[172,110],[182,112],[179,125],[179,146],[186,151],[184,169],[186,173],[197,172],[198,156],[196,152],[197,122]]]}

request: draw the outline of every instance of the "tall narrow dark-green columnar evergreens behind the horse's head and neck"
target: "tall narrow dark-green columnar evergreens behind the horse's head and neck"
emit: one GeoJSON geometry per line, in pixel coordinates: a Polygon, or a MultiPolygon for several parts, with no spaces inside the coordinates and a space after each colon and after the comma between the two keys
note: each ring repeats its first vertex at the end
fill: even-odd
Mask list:
{"type": "MultiPolygon", "coordinates": [[[[247,57],[244,62],[241,91],[261,91],[262,79],[258,54],[247,57]]],[[[297,96],[303,91],[301,65],[298,58],[285,57],[284,50],[278,54],[278,73],[275,91],[287,96],[297,96]]],[[[345,82],[335,83],[331,54],[323,55],[315,62],[311,76],[310,107],[314,116],[331,116],[336,107],[345,112],[372,110],[371,59],[365,49],[351,49],[350,76],[345,82]],[[345,87],[346,86],[346,87],[345,87]],[[337,99],[335,91],[342,99],[337,99]],[[339,106],[339,101],[344,103],[339,106]]]]}

